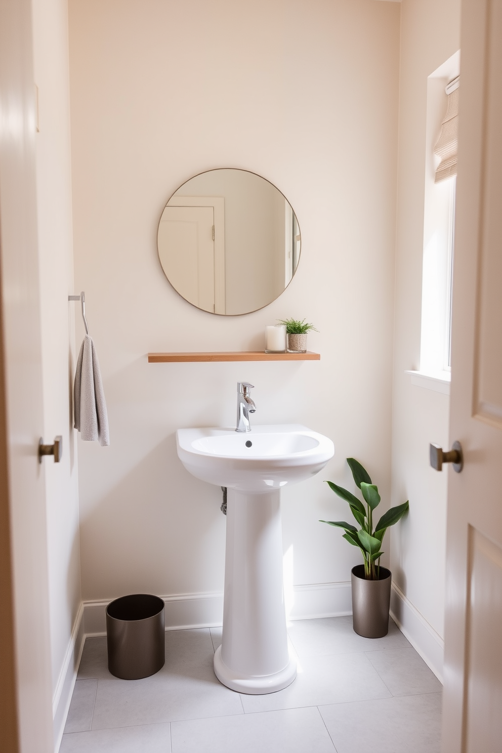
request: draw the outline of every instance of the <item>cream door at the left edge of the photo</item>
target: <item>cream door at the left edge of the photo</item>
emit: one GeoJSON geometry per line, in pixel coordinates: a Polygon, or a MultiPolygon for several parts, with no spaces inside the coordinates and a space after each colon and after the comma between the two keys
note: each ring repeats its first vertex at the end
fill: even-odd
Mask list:
{"type": "MultiPolygon", "coordinates": [[[[38,464],[43,404],[31,13],[29,0],[0,3],[0,303],[7,404],[0,446],[8,465],[17,749],[49,753],[52,678],[44,465],[38,464]]],[[[0,619],[4,610],[5,603],[0,619]]],[[[3,735],[0,729],[0,750],[13,750],[3,735]]]]}

